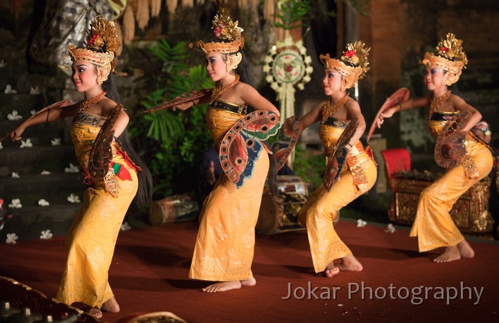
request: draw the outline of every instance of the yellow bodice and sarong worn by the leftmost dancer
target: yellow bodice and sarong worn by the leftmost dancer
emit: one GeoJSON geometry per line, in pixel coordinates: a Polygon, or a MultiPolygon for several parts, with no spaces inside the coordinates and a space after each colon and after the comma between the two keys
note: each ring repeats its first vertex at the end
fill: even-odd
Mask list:
{"type": "MultiPolygon", "coordinates": [[[[73,120],[71,141],[75,147],[80,168],[87,169],[89,153],[105,118],[82,112],[73,120]]],[[[120,154],[116,142],[112,144],[112,162],[126,167],[131,181],[115,176],[119,196],[107,193],[102,181],[85,190],[82,206],[67,234],[68,257],[57,293],[57,299],[66,304],[82,302],[100,308],[113,297],[107,275],[114,246],[125,213],[137,192],[139,181],[134,168],[120,154]]]]}

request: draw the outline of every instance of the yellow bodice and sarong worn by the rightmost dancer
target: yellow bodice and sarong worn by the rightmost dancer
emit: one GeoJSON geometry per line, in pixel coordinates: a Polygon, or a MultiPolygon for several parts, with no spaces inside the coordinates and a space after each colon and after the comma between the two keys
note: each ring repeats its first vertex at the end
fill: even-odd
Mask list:
{"type": "MultiPolygon", "coordinates": [[[[428,127],[435,138],[446,123],[443,116],[449,114],[453,113],[433,113],[428,127]]],[[[466,135],[464,145],[466,155],[461,165],[448,169],[419,196],[416,218],[410,231],[410,237],[418,237],[419,252],[456,246],[464,240],[449,212],[459,196],[487,176],[493,165],[491,151],[470,133],[466,135]]]]}

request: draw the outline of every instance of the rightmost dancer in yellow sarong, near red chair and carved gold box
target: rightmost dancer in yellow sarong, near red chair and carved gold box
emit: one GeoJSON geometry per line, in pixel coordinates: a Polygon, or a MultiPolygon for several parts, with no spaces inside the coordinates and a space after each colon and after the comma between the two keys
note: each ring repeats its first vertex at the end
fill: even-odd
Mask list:
{"type": "Polygon", "coordinates": [[[426,66],[424,80],[432,94],[396,104],[375,120],[380,127],[385,118],[396,112],[430,107],[428,127],[437,139],[435,161],[448,170],[421,192],[410,236],[418,237],[419,252],[446,248],[433,259],[435,262],[474,257],[475,252],[450,218],[449,211],[459,196],[491,172],[493,165],[487,145],[470,131],[482,115],[448,89],[459,80],[467,62],[462,40],[448,33],[440,39],[436,53],[425,53],[420,62],[426,66]]]}

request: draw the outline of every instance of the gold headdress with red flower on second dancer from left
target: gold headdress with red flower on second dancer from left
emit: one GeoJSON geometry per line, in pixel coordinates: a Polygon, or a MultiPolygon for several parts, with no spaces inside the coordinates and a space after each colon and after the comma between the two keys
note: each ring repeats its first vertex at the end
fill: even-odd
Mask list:
{"type": "MultiPolygon", "coordinates": [[[[232,21],[230,12],[225,8],[220,8],[217,15],[213,18],[211,29],[216,39],[220,41],[196,41],[195,44],[189,44],[193,48],[195,45],[200,46],[204,53],[221,53],[229,54],[236,53],[240,48],[244,47],[244,37],[241,36],[243,28],[238,27],[238,21],[232,21]]],[[[241,53],[227,55],[227,71],[236,69],[243,56],[241,53]]]]}

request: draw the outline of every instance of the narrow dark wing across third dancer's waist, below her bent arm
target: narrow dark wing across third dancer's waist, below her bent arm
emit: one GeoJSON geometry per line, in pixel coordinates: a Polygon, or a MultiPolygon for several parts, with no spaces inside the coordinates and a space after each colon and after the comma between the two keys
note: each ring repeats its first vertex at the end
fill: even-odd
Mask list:
{"type": "Polygon", "coordinates": [[[347,127],[343,130],[338,142],[336,142],[333,152],[328,156],[328,165],[326,166],[326,171],[324,172],[324,178],[322,183],[326,190],[330,190],[333,183],[340,179],[340,174],[342,172],[343,166],[347,161],[348,149],[345,147],[349,140],[352,138],[353,133],[356,132],[358,126],[357,118],[354,118],[349,122],[347,127]]]}

